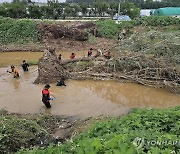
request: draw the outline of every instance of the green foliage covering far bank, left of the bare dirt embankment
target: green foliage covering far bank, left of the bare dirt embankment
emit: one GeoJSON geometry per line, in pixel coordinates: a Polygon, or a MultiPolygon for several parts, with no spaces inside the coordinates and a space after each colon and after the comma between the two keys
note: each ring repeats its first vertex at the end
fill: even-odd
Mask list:
{"type": "Polygon", "coordinates": [[[37,42],[39,33],[36,23],[27,20],[0,19],[0,43],[28,43],[37,42]]]}

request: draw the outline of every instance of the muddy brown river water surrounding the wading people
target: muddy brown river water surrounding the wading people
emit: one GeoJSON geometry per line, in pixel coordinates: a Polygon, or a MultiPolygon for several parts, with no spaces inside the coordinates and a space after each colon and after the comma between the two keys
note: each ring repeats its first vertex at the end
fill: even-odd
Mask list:
{"type": "MultiPolygon", "coordinates": [[[[84,52],[79,53],[83,55],[84,52]]],[[[69,53],[63,56],[69,57],[69,53]]],[[[14,79],[6,71],[9,65],[23,59],[37,60],[42,53],[0,53],[0,109],[15,113],[47,113],[68,116],[117,116],[131,108],[168,108],[180,105],[180,95],[133,83],[116,81],[66,81],[66,87],[52,85],[54,100],[47,110],[41,102],[43,85],[32,84],[37,77],[37,66],[14,79]]]]}

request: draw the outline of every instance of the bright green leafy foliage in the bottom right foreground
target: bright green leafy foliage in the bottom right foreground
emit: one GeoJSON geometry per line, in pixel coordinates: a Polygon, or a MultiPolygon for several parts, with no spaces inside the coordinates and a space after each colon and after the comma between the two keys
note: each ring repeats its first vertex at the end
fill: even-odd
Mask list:
{"type": "Polygon", "coordinates": [[[102,120],[87,132],[72,141],[47,149],[21,150],[22,153],[127,153],[155,154],[174,151],[178,153],[179,144],[148,144],[147,141],[179,141],[180,107],[172,109],[135,109],[121,118],[102,120]],[[138,148],[134,139],[144,139],[138,148]],[[134,142],[133,142],[134,141],[134,142]]]}

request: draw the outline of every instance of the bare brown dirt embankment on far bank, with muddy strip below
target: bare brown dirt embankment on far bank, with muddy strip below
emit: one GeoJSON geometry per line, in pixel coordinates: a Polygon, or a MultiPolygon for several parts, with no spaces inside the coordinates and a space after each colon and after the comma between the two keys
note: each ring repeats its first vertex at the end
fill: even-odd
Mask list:
{"type": "Polygon", "coordinates": [[[76,52],[88,50],[90,47],[97,49],[108,48],[116,42],[111,39],[98,37],[93,22],[39,23],[37,29],[40,33],[38,43],[2,45],[0,52],[43,52],[47,48],[55,48],[56,51],[76,52]],[[89,40],[87,29],[89,33],[97,37],[89,40]]]}

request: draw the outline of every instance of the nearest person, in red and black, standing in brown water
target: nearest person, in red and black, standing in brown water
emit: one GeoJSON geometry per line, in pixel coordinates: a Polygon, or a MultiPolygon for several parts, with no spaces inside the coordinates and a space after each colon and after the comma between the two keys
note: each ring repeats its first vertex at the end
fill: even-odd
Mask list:
{"type": "Polygon", "coordinates": [[[44,105],[46,106],[46,108],[51,108],[51,104],[49,102],[49,100],[51,100],[50,98],[50,92],[49,92],[49,88],[51,86],[49,84],[46,84],[44,86],[44,89],[42,90],[42,102],[44,103],[44,105]]]}

